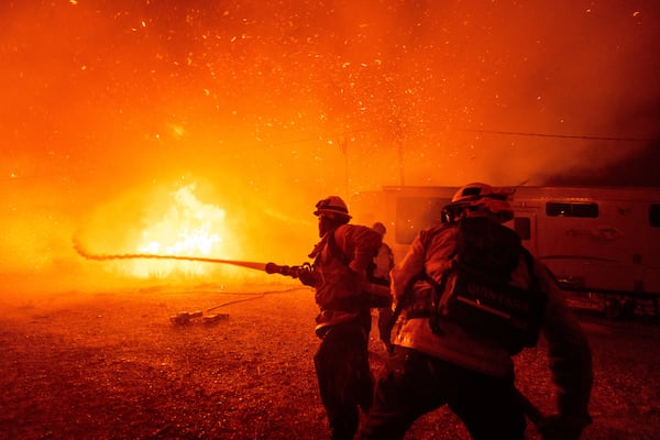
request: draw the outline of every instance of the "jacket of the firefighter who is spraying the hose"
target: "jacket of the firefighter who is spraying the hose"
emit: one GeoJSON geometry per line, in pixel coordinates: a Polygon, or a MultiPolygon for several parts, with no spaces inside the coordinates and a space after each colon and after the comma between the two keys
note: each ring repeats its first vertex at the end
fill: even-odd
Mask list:
{"type": "Polygon", "coordinates": [[[381,235],[360,224],[342,224],[329,231],[315,248],[316,302],[326,324],[339,323],[369,312],[369,295],[360,284],[382,242],[381,235]]]}

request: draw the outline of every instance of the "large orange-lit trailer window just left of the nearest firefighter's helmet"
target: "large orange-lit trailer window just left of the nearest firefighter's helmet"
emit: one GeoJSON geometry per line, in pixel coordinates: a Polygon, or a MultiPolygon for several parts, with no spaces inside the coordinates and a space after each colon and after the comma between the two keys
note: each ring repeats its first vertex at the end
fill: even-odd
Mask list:
{"type": "Polygon", "coordinates": [[[410,244],[422,229],[442,221],[442,208],[451,200],[439,197],[399,197],[396,199],[395,240],[410,244]]]}

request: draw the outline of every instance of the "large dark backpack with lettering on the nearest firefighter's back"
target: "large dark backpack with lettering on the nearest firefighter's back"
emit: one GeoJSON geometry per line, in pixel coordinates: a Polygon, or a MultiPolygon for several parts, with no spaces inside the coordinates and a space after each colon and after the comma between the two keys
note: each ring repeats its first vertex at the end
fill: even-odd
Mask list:
{"type": "Polygon", "coordinates": [[[474,338],[502,344],[510,354],[536,345],[547,297],[534,275],[531,254],[515,231],[487,218],[461,219],[458,228],[451,267],[440,283],[430,280],[435,286],[431,328],[440,334],[439,320],[450,320],[474,338]],[[528,288],[510,284],[521,256],[531,276],[528,288]],[[451,275],[455,282],[449,290],[451,275]]]}

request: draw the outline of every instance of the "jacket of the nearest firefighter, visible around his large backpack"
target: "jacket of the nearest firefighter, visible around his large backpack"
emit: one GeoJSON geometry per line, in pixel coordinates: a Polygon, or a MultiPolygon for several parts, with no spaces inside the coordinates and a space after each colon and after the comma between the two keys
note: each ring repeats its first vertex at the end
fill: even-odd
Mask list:
{"type": "MultiPolygon", "coordinates": [[[[406,299],[407,288],[413,290],[415,298],[404,309],[393,342],[483,374],[504,376],[513,371],[514,365],[503,344],[476,339],[451,321],[439,320],[440,331],[433,331],[428,317],[419,312],[433,290],[430,283],[419,279],[419,274],[426,273],[440,284],[452,255],[457,253],[458,235],[455,223],[422,231],[404,260],[393,268],[394,300],[406,299]]],[[[536,287],[547,295],[541,334],[548,343],[549,366],[553,383],[559,388],[559,409],[561,414],[585,415],[593,381],[588,343],[549,270],[534,258],[531,271],[525,258],[520,258],[510,284],[526,288],[535,279],[536,287]]],[[[450,278],[448,283],[451,282],[450,278]]]]}

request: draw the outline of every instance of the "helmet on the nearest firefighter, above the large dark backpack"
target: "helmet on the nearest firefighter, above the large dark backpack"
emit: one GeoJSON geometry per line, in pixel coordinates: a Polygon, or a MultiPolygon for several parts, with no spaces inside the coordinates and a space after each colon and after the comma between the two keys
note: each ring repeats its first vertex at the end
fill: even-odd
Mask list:
{"type": "Polygon", "coordinates": [[[475,182],[460,188],[444,207],[443,220],[455,221],[460,217],[495,216],[505,223],[514,218],[507,195],[491,185],[475,182]]]}

